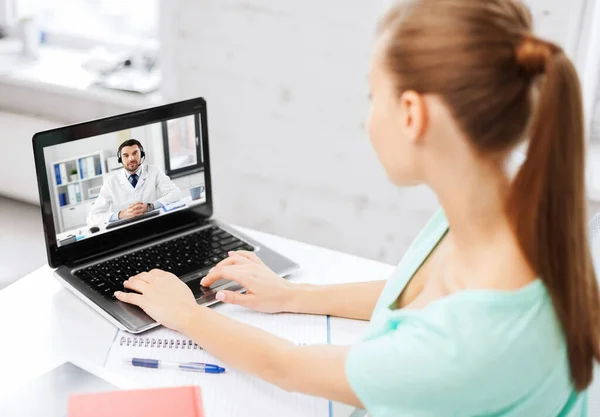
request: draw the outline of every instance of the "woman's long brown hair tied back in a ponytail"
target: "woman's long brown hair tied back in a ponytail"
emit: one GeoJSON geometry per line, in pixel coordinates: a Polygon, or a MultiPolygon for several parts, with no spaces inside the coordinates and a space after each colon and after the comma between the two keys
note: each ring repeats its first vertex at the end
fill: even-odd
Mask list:
{"type": "Polygon", "coordinates": [[[581,88],[563,50],[535,37],[516,0],[404,0],[382,21],[398,94],[443,99],[473,149],[506,153],[529,137],[506,210],[545,283],[584,390],[600,359],[600,294],[586,230],[581,88]]]}

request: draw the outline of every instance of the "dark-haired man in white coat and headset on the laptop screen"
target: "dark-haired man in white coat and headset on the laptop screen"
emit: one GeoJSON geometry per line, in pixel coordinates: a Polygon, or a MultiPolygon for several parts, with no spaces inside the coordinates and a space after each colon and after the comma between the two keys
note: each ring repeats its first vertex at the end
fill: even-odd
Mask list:
{"type": "Polygon", "coordinates": [[[117,156],[123,169],[104,181],[88,213],[89,226],[136,217],[181,196],[181,190],[159,167],[142,163],[146,155],[139,141],[123,142],[117,156]]]}

